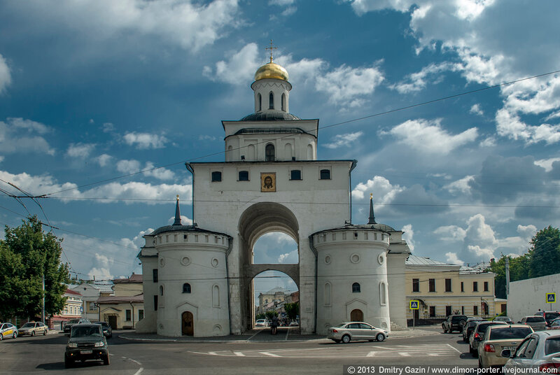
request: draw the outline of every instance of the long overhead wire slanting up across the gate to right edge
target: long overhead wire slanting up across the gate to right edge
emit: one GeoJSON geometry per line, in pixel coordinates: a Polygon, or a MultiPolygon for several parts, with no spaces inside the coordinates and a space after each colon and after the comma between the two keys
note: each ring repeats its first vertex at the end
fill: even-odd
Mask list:
{"type": "MultiPolygon", "coordinates": [[[[555,74],[555,73],[560,73],[560,70],[550,71],[550,72],[548,72],[548,73],[542,73],[542,74],[538,74],[538,75],[535,75],[535,76],[529,76],[529,77],[525,77],[525,78],[520,78],[520,79],[517,79],[517,80],[510,80],[510,81],[505,82],[505,83],[499,83],[499,84],[497,84],[497,85],[482,87],[482,88],[479,88],[479,89],[476,89],[476,90],[470,90],[470,91],[467,91],[467,92],[460,92],[460,93],[458,93],[458,94],[449,95],[449,96],[447,96],[447,97],[440,97],[440,98],[438,98],[438,99],[432,99],[432,100],[428,100],[428,101],[421,101],[420,103],[411,104],[411,105],[409,105],[409,106],[402,106],[402,107],[398,107],[398,108],[393,108],[393,109],[388,110],[388,111],[382,111],[382,112],[374,113],[374,114],[372,114],[372,115],[363,116],[363,117],[360,117],[360,118],[354,118],[354,119],[351,119],[351,120],[346,120],[346,121],[342,121],[342,122],[337,122],[337,123],[332,124],[332,125],[325,125],[325,126],[323,126],[323,127],[318,127],[318,129],[328,129],[328,128],[330,128],[330,127],[338,127],[338,126],[340,126],[340,125],[346,125],[346,124],[349,124],[349,123],[351,123],[351,122],[357,122],[357,121],[361,121],[361,120],[366,120],[366,119],[368,119],[368,118],[375,118],[375,117],[378,117],[378,116],[381,116],[381,115],[388,115],[389,113],[395,113],[395,112],[399,112],[399,111],[405,111],[406,109],[415,108],[415,107],[419,107],[419,106],[426,106],[426,105],[428,105],[428,104],[437,103],[437,102],[439,102],[439,101],[445,101],[445,100],[448,100],[448,99],[454,99],[454,98],[462,97],[462,96],[469,95],[469,94],[475,94],[475,93],[477,93],[477,92],[482,92],[482,91],[486,91],[486,90],[496,89],[496,88],[498,88],[498,87],[503,87],[503,86],[507,86],[507,85],[513,85],[514,83],[519,83],[519,82],[522,82],[522,81],[524,81],[524,80],[532,80],[532,79],[535,79],[535,78],[540,78],[540,77],[544,77],[544,76],[550,76],[550,75],[555,74]]],[[[290,137],[290,136],[292,136],[292,135],[291,135],[291,134],[287,134],[287,135],[285,135],[285,136],[279,136],[279,137],[277,137],[277,138],[274,139],[274,140],[283,139],[283,138],[290,137]]],[[[267,140],[266,142],[269,142],[269,141],[270,141],[270,140],[267,140]]],[[[265,141],[262,141],[262,142],[260,142],[260,143],[263,143],[263,142],[265,142],[265,141]]],[[[258,143],[256,143],[256,144],[258,144],[258,143]]],[[[242,148],[244,148],[244,147],[246,147],[246,146],[238,147],[238,148],[235,148],[235,149],[233,149],[233,150],[240,150],[240,149],[242,149],[242,148]]],[[[230,151],[230,150],[229,150],[229,151],[230,151]]],[[[58,194],[58,193],[60,193],[60,192],[67,192],[67,191],[71,191],[71,190],[77,190],[77,189],[80,189],[80,188],[82,188],[82,187],[88,187],[88,186],[92,186],[92,185],[99,185],[100,183],[106,183],[106,182],[109,182],[109,181],[115,181],[115,180],[118,180],[118,179],[120,179],[120,178],[135,176],[135,175],[137,175],[137,174],[144,174],[144,173],[149,172],[149,171],[154,171],[155,169],[162,169],[162,168],[172,167],[172,166],[174,166],[174,165],[183,164],[183,163],[185,163],[185,162],[193,162],[193,161],[195,161],[195,160],[201,160],[201,159],[205,159],[205,158],[207,158],[207,157],[212,157],[212,156],[216,156],[216,155],[223,155],[223,154],[225,154],[225,153],[226,153],[226,151],[220,151],[220,152],[216,152],[216,153],[210,153],[210,154],[207,154],[207,155],[202,155],[202,156],[200,156],[200,157],[193,157],[193,158],[191,158],[191,159],[189,159],[189,160],[183,160],[183,161],[181,161],[181,162],[174,162],[174,163],[162,165],[162,166],[160,166],[160,167],[153,167],[153,168],[149,168],[149,169],[143,169],[143,170],[141,170],[141,171],[137,171],[137,172],[134,172],[134,173],[131,173],[131,174],[125,174],[125,175],[121,175],[121,176],[116,176],[116,177],[112,177],[112,178],[107,178],[107,179],[102,180],[102,181],[96,181],[96,182],[93,182],[93,183],[87,183],[87,184],[79,185],[79,186],[76,186],[76,187],[70,187],[70,188],[68,188],[68,189],[58,190],[57,192],[49,192],[49,193],[41,194],[41,195],[39,195],[38,197],[48,197],[48,196],[50,196],[50,195],[58,194]]]]}

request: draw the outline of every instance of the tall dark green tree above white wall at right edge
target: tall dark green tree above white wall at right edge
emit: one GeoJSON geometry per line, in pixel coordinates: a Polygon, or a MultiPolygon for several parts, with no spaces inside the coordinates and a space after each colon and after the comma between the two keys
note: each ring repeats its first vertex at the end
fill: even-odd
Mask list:
{"type": "Polygon", "coordinates": [[[548,226],[533,236],[529,277],[540,277],[558,273],[560,269],[560,229],[548,226]]]}

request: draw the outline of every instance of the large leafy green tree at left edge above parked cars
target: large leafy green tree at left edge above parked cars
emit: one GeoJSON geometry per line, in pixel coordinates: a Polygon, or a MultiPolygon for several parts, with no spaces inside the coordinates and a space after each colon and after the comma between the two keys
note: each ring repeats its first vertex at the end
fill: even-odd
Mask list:
{"type": "Polygon", "coordinates": [[[23,220],[19,227],[6,226],[0,240],[0,316],[40,316],[43,308],[45,277],[45,315],[64,308],[65,283],[69,267],[60,260],[62,240],[43,232],[36,216],[23,220]]]}

